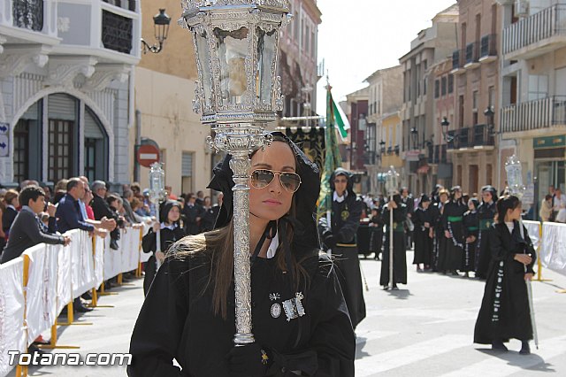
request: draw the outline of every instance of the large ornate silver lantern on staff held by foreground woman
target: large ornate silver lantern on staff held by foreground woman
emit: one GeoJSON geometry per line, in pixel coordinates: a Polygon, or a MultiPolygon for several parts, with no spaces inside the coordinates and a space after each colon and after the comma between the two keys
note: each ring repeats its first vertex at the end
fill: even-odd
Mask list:
{"type": "Polygon", "coordinates": [[[283,108],[277,54],[288,0],[182,0],[180,26],[193,35],[199,81],[193,110],[210,125],[210,148],[232,155],[236,344],[251,333],[249,155],[272,142],[265,124],[283,108]]]}

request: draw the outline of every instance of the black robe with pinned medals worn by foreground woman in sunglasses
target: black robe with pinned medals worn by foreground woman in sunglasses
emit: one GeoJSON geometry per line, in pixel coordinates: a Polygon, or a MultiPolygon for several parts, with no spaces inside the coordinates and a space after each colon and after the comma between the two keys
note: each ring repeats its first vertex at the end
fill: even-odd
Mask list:
{"type": "MultiPolygon", "coordinates": [[[[134,327],[128,375],[228,376],[226,355],[236,331],[233,285],[224,320],[213,313],[212,289],[201,294],[210,276],[208,258],[197,253],[168,259],[159,269],[134,327]]],[[[325,256],[305,260],[309,288],[294,292],[276,262],[256,258],[251,267],[252,331],[272,359],[267,375],[291,377],[296,376],[292,370],[300,370],[302,375],[353,376],[356,340],[332,263],[325,256]],[[299,292],[305,314],[287,320],[281,306],[299,292]]]]}

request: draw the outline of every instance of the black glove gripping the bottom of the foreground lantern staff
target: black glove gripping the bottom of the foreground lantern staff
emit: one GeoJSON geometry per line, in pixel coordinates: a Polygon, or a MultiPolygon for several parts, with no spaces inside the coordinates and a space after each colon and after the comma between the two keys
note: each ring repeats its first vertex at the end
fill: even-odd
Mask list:
{"type": "Polygon", "coordinates": [[[233,347],[227,358],[231,377],[264,376],[270,361],[266,350],[257,343],[233,347]]]}

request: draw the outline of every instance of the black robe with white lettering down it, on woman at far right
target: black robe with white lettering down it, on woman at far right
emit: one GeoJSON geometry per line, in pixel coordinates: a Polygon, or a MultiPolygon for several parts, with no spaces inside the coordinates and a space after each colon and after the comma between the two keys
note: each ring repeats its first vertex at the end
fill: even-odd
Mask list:
{"type": "Polygon", "coordinates": [[[518,253],[530,254],[532,263],[527,266],[527,272],[534,273],[532,266],[537,257],[527,229],[524,227],[523,239],[517,221],[512,234],[507,225],[496,224],[489,234],[487,248],[492,260],[476,321],[474,342],[491,344],[494,340],[508,342],[511,338],[531,340],[531,311],[524,281],[524,265],[514,259],[518,253]],[[501,282],[498,282],[500,279],[501,282]],[[498,291],[501,292],[500,297],[497,297],[498,291]],[[497,312],[495,307],[499,308],[497,312]]]}

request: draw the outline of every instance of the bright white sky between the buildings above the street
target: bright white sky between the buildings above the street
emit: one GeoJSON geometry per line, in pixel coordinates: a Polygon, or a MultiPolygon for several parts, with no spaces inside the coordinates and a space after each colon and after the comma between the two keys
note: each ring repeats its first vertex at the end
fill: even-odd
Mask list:
{"type": "MultiPolygon", "coordinates": [[[[419,31],[455,0],[318,0],[318,62],[325,61],[336,102],[367,86],[371,73],[398,65],[419,31]],[[348,6],[350,5],[350,6],[348,6]]],[[[317,113],[325,115],[323,77],[317,83],[317,113]]]]}

